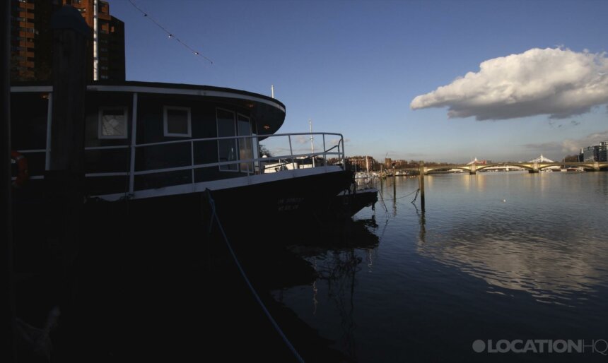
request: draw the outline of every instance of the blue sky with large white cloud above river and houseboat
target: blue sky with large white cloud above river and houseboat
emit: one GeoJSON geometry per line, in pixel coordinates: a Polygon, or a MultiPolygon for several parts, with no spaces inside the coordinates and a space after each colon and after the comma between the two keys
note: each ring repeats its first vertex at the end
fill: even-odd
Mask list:
{"type": "Polygon", "coordinates": [[[279,133],[310,119],[346,155],[561,160],[608,141],[605,0],[109,2],[127,80],[274,85],[279,133]]]}

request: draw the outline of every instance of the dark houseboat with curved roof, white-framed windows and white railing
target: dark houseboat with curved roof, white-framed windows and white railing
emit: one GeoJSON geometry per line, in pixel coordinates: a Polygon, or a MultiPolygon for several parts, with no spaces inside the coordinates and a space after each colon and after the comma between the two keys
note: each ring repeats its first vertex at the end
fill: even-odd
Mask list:
{"type": "MultiPolygon", "coordinates": [[[[12,148],[28,165],[27,181],[23,170],[16,167],[13,174],[20,184],[17,203],[28,194],[44,194],[52,158],[52,99],[52,85],[11,87],[12,148]]],[[[296,139],[312,135],[277,133],[285,116],[279,100],[243,90],[90,83],[86,205],[128,203],[130,218],[146,218],[201,213],[201,205],[213,201],[213,213],[223,220],[259,223],[349,218],[375,201],[375,195],[356,193],[353,172],[344,167],[341,134],[312,133],[322,148],[298,149],[296,139]],[[284,151],[261,155],[261,145],[284,151]]]]}

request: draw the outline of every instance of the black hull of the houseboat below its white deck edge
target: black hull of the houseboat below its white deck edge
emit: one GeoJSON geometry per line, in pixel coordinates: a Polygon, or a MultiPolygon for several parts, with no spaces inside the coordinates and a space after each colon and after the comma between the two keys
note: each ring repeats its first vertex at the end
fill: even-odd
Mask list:
{"type": "MultiPolygon", "coordinates": [[[[127,210],[133,224],[182,225],[209,223],[214,213],[230,228],[298,225],[317,222],[321,225],[339,218],[350,218],[368,204],[351,196],[337,195],[349,189],[353,173],[328,172],[264,182],[228,189],[158,196],[124,201],[90,201],[90,213],[112,214],[127,210]],[[358,202],[355,205],[354,201],[358,202]],[[355,208],[358,208],[355,210],[355,208]]],[[[243,231],[244,232],[244,231],[243,231]]]]}

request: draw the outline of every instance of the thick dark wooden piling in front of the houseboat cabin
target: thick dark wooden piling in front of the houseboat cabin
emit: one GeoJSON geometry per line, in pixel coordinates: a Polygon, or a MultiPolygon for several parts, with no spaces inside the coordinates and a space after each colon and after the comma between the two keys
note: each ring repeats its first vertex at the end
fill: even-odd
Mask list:
{"type": "MultiPolygon", "coordinates": [[[[90,28],[81,13],[64,6],[51,19],[53,30],[53,97],[49,170],[45,172],[49,235],[57,250],[54,282],[65,326],[75,323],[75,261],[84,211],[84,124],[87,42],[90,28]]],[[[69,328],[66,328],[69,330],[69,328]]]]}

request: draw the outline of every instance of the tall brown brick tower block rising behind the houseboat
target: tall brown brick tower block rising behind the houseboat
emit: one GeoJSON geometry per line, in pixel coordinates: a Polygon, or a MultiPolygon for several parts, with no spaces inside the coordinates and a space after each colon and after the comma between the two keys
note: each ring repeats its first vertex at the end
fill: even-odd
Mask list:
{"type": "Polygon", "coordinates": [[[102,0],[11,1],[11,80],[48,81],[52,73],[51,17],[74,6],[91,28],[87,72],[90,80],[124,81],[124,23],[110,16],[102,0]]]}

